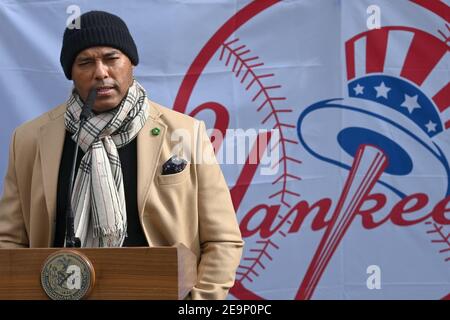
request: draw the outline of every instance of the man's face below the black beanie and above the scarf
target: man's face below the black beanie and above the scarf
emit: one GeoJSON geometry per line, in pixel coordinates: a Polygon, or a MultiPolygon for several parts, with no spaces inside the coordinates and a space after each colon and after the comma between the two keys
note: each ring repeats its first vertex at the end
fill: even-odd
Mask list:
{"type": "Polygon", "coordinates": [[[72,80],[83,101],[97,88],[94,111],[104,112],[119,105],[133,83],[133,65],[120,50],[92,47],[81,51],[72,66],[72,80]]]}

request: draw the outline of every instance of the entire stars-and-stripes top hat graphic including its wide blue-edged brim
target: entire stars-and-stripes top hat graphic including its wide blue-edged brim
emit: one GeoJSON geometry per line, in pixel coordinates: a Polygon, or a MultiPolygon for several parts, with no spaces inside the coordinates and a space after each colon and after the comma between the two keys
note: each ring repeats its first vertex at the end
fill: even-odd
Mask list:
{"type": "Polygon", "coordinates": [[[450,194],[449,164],[435,142],[450,128],[447,43],[418,29],[384,27],[348,40],[345,56],[348,98],[320,101],[300,115],[305,149],[350,170],[357,150],[373,145],[388,160],[378,182],[399,197],[424,187],[408,183],[411,177],[433,184],[436,199],[450,194]],[[320,130],[324,118],[333,124],[320,130]]]}

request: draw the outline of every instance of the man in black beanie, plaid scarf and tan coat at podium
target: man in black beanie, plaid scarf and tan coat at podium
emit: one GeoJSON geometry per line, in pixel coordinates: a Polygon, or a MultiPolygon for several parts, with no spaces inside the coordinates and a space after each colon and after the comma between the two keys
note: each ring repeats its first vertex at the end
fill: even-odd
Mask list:
{"type": "Polygon", "coordinates": [[[204,161],[215,160],[204,123],[147,98],[133,78],[138,52],[119,17],[91,11],[80,18],[79,29],[64,32],[60,59],[72,95],[13,134],[0,247],[64,246],[79,136],[71,205],[82,246],[183,243],[198,259],[190,298],[224,299],[243,241],[220,167],[204,161]],[[81,125],[92,88],[94,112],[81,125]],[[183,141],[190,159],[175,152],[179,132],[190,137],[183,141]]]}

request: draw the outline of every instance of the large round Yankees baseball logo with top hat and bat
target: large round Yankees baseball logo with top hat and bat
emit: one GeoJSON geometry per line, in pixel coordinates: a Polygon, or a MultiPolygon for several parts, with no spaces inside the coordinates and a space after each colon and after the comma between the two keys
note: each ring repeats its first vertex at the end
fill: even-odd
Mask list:
{"type": "Polygon", "coordinates": [[[426,297],[447,296],[449,7],[390,4],[433,14],[432,27],[415,26],[413,16],[374,30],[350,25],[338,43],[320,41],[322,30],[308,20],[326,10],[296,5],[261,0],[242,7],[199,52],[174,104],[221,132],[223,139],[212,141],[218,153],[229,128],[276,131],[268,139],[256,134],[244,163],[222,166],[246,241],[232,295],[403,298],[406,290],[395,283],[433,279],[442,285],[426,297]],[[312,26],[295,34],[301,41],[291,32],[291,13],[312,26]],[[266,30],[269,14],[278,23],[266,30]],[[266,31],[262,44],[254,35],[266,31]],[[298,60],[283,65],[284,52],[298,60]],[[208,90],[211,84],[220,90],[208,90]],[[274,149],[277,170],[262,174],[274,149]],[[392,274],[383,293],[366,288],[373,263],[392,274]]]}

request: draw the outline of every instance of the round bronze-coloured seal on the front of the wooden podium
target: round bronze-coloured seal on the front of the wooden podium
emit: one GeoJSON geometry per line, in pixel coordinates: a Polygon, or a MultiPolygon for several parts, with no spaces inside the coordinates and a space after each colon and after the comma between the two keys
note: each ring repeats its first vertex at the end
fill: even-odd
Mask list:
{"type": "Polygon", "coordinates": [[[60,250],[50,255],[41,270],[42,288],[52,300],[86,298],[94,282],[92,263],[73,250],[60,250]]]}

